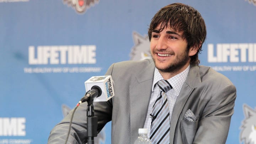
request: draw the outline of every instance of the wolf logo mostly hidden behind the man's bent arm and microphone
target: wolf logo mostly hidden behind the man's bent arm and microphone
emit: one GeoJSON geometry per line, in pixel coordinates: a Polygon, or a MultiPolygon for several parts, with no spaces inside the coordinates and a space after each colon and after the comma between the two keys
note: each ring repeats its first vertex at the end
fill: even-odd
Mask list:
{"type": "MultiPolygon", "coordinates": [[[[62,113],[63,113],[63,116],[65,117],[66,115],[69,114],[69,111],[71,109],[66,106],[66,105],[62,105],[62,113]]],[[[94,143],[95,144],[105,144],[105,141],[106,141],[106,128],[104,127],[100,133],[98,133],[97,137],[94,138],[94,143]]]]}

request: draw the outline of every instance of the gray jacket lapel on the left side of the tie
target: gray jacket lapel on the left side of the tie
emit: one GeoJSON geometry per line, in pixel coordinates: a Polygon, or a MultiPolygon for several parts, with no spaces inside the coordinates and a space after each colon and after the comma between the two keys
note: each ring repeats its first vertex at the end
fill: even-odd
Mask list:
{"type": "Polygon", "coordinates": [[[151,62],[139,73],[130,85],[130,127],[132,140],[138,136],[138,128],[143,128],[153,85],[155,65],[151,62]]]}

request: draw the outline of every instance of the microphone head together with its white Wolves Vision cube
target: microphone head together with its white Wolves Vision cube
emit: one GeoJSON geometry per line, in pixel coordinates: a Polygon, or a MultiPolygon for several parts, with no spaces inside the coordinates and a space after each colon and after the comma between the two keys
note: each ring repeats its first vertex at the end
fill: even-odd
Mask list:
{"type": "Polygon", "coordinates": [[[113,80],[111,75],[92,76],[85,81],[85,89],[88,91],[85,97],[93,98],[95,102],[108,101],[114,96],[113,80]]]}

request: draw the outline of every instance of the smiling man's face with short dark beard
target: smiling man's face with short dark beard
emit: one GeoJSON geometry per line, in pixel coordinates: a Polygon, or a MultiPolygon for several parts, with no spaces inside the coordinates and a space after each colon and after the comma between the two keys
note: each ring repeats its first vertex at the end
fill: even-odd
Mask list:
{"type": "Polygon", "coordinates": [[[183,32],[177,32],[165,27],[159,32],[160,25],[152,32],[150,51],[156,68],[161,72],[180,73],[190,64],[190,57],[194,55],[187,41],[182,39],[183,32]]]}

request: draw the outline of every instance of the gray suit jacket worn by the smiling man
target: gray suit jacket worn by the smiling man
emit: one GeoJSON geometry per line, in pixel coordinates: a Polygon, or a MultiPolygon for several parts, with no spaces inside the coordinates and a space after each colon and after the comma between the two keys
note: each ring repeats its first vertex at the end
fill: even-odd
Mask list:
{"type": "MultiPolygon", "coordinates": [[[[133,144],[138,128],[143,128],[153,85],[153,60],[112,64],[106,75],[112,75],[115,96],[107,102],[95,102],[98,132],[112,121],[113,144],[133,144]]],[[[170,127],[170,144],[224,144],[234,113],[235,86],[228,78],[206,66],[191,66],[176,100],[170,127]],[[183,120],[190,109],[197,121],[183,120]]],[[[70,143],[86,142],[86,102],[75,112],[70,143]]],[[[70,114],[55,126],[48,143],[63,143],[70,114]]]]}

